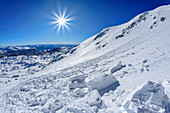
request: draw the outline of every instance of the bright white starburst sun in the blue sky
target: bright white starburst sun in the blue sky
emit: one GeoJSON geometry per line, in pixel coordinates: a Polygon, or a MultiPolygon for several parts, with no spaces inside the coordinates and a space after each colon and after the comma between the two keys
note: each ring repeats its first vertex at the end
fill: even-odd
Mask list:
{"type": "Polygon", "coordinates": [[[52,21],[50,25],[55,25],[57,31],[70,30],[71,21],[74,20],[73,16],[70,16],[67,10],[55,11],[52,10],[52,21]]]}

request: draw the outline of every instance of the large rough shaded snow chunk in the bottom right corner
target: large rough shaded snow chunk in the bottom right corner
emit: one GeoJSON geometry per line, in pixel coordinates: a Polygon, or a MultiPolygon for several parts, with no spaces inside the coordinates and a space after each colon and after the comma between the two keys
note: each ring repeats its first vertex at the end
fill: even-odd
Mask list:
{"type": "Polygon", "coordinates": [[[169,98],[164,92],[161,83],[147,82],[132,95],[124,108],[133,112],[162,112],[168,106],[169,98]]]}

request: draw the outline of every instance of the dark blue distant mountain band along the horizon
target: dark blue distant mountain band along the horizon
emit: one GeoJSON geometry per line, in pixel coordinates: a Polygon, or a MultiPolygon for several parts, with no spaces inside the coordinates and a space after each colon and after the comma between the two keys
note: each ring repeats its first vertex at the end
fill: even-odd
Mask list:
{"type": "Polygon", "coordinates": [[[44,55],[47,53],[61,52],[64,48],[70,50],[76,47],[76,44],[36,44],[36,45],[20,45],[7,46],[0,48],[0,58],[12,56],[30,56],[30,55],[44,55]]]}

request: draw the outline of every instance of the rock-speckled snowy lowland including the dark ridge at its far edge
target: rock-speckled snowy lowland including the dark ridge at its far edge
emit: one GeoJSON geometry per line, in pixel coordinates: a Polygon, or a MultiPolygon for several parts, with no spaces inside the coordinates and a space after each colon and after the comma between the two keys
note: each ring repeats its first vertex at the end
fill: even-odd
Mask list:
{"type": "Polygon", "coordinates": [[[4,53],[0,58],[0,83],[8,84],[25,80],[52,62],[63,59],[72,48],[61,47],[40,52],[18,50],[4,53]]]}

